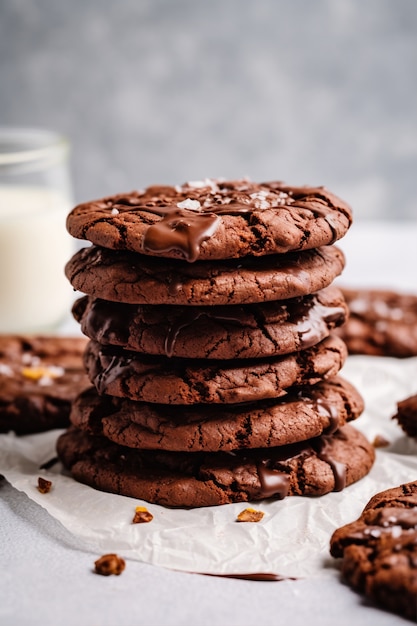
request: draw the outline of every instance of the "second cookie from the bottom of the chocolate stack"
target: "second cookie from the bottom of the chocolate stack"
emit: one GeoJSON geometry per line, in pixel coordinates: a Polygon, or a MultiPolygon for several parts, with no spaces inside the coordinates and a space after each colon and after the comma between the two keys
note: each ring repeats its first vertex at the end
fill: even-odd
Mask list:
{"type": "Polygon", "coordinates": [[[215,452],[303,441],[333,432],[362,410],[352,385],[334,378],[279,399],[215,406],[140,403],[90,389],[74,402],[71,421],[131,448],[215,452]]]}

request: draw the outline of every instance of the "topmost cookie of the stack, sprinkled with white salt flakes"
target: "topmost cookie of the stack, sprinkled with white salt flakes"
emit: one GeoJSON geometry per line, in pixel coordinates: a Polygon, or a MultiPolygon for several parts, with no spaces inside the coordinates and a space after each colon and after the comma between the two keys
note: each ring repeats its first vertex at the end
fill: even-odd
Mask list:
{"type": "Polygon", "coordinates": [[[324,187],[207,179],[80,204],[67,228],[104,248],[193,262],[317,248],[351,221],[350,207],[324,187]]]}

